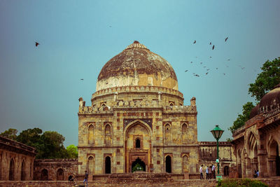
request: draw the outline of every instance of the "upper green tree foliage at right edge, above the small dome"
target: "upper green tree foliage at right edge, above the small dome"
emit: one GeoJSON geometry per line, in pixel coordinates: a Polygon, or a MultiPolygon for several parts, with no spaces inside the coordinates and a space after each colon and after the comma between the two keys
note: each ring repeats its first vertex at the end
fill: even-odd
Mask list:
{"type": "Polygon", "coordinates": [[[262,72],[258,74],[255,83],[251,83],[248,89],[249,94],[258,101],[280,83],[280,57],[272,61],[267,60],[261,69],[262,72]]]}

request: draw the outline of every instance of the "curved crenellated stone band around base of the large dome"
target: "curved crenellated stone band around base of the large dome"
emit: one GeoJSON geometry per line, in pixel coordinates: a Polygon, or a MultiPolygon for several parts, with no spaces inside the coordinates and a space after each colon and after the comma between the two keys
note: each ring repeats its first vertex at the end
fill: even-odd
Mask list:
{"type": "Polygon", "coordinates": [[[135,92],[162,92],[162,93],[183,97],[183,94],[181,92],[171,88],[151,86],[151,85],[131,85],[131,86],[113,87],[113,88],[106,88],[104,90],[99,90],[92,94],[92,99],[99,95],[114,94],[116,92],[120,93],[120,92],[134,92],[134,91],[135,92]]]}

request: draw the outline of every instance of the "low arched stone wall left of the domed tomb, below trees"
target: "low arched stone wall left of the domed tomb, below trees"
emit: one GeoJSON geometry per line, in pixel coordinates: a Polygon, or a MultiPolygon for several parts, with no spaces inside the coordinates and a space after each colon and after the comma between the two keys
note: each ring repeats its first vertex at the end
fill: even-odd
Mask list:
{"type": "Polygon", "coordinates": [[[36,159],[35,181],[67,181],[70,174],[78,174],[77,159],[36,159]]]}

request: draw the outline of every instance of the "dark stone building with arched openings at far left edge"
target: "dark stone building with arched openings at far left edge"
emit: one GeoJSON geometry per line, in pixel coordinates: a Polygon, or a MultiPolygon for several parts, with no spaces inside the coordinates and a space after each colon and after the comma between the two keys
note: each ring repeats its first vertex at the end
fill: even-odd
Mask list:
{"type": "Polygon", "coordinates": [[[0,137],[0,180],[32,180],[35,155],[35,148],[0,137]]]}

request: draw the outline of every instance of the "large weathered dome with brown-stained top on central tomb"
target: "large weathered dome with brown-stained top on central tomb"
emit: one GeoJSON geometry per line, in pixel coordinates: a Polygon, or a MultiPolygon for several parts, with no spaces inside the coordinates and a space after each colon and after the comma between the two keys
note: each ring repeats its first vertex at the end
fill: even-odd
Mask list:
{"type": "Polygon", "coordinates": [[[138,41],[109,60],[97,78],[97,91],[128,85],[153,85],[178,90],[172,66],[138,41]]]}

